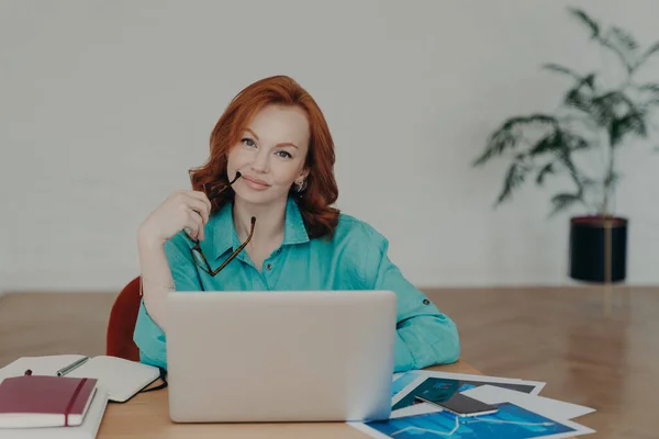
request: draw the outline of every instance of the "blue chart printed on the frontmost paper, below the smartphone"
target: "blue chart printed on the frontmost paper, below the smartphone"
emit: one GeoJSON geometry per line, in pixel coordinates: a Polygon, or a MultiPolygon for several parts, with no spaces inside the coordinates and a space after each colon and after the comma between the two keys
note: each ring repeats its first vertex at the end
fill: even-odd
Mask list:
{"type": "Polygon", "coordinates": [[[447,412],[367,423],[367,426],[396,439],[536,438],[574,429],[514,404],[499,404],[494,415],[459,418],[447,412]]]}

